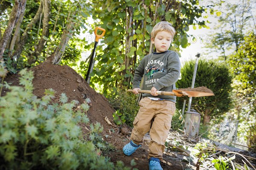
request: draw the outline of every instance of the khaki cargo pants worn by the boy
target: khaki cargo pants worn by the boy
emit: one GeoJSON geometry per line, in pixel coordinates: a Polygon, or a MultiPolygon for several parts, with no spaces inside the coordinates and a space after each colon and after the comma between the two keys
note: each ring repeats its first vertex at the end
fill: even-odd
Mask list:
{"type": "Polygon", "coordinates": [[[135,144],[142,144],[145,133],[150,130],[148,159],[154,157],[163,161],[164,143],[171,128],[172,116],[176,109],[175,103],[168,100],[154,101],[144,97],[139,105],[140,110],[133,122],[131,140],[135,144]]]}

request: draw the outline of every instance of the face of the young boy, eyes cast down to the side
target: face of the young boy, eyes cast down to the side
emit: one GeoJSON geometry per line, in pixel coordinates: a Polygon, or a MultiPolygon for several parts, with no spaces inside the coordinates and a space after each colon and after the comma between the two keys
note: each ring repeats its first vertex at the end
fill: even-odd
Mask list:
{"type": "Polygon", "coordinates": [[[157,53],[161,53],[169,49],[172,42],[172,34],[167,31],[160,31],[154,39],[151,38],[151,41],[155,45],[157,53]]]}

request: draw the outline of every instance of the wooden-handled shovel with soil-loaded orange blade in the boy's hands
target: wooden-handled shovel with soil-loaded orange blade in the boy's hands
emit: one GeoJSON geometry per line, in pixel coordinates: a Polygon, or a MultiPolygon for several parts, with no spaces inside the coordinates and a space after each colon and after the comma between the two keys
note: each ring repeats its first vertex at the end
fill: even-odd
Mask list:
{"type": "MultiPolygon", "coordinates": [[[[186,88],[182,90],[173,90],[170,91],[157,91],[158,95],[170,95],[170,96],[189,96],[189,97],[202,97],[202,96],[214,96],[213,92],[209,90],[208,88],[204,87],[204,91],[197,91],[197,89],[202,89],[202,87],[199,88],[186,88]]],[[[127,90],[128,92],[132,92],[131,89],[127,90]]],[[[150,94],[150,90],[138,90],[139,93],[146,93],[150,94]]]]}

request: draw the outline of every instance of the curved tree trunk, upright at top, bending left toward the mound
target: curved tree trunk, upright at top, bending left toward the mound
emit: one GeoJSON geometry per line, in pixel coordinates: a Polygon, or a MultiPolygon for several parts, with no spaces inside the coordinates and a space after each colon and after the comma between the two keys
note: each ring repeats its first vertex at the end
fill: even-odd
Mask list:
{"type": "Polygon", "coordinates": [[[51,2],[49,0],[43,0],[43,9],[44,9],[44,19],[43,19],[43,31],[41,39],[39,40],[38,44],[35,45],[35,51],[32,53],[32,56],[29,57],[29,64],[31,65],[34,63],[38,56],[44,49],[45,43],[47,40],[44,37],[49,37],[49,20],[50,20],[50,5],[51,2]]]}

